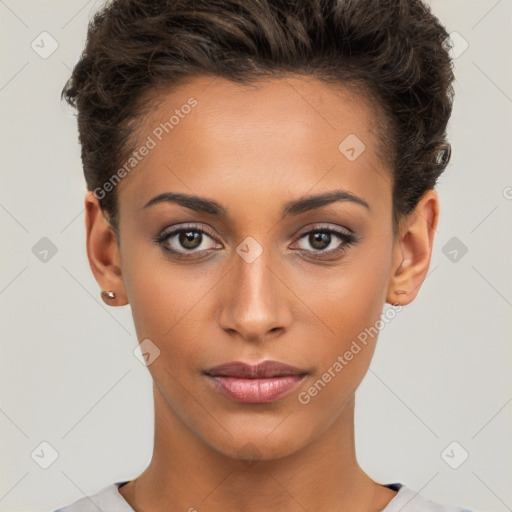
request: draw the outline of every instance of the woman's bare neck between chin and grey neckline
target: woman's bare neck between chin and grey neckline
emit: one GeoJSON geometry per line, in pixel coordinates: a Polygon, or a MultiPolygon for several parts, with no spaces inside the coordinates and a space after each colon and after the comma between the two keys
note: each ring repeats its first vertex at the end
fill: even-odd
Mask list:
{"type": "Polygon", "coordinates": [[[357,463],[353,396],[332,425],[294,453],[251,460],[248,444],[240,460],[207,445],[172,411],[157,386],[153,393],[152,460],[119,490],[137,511],[379,511],[396,494],[373,482],[357,463]]]}

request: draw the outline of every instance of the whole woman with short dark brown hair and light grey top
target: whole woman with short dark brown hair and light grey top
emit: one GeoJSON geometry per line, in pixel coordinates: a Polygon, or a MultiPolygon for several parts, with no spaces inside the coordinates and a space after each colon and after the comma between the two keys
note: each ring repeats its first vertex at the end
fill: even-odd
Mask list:
{"type": "Polygon", "coordinates": [[[113,0],[63,90],[87,254],[153,379],[146,470],[61,512],[461,511],[358,465],[354,395],[414,300],[449,160],[414,0],[113,0]]]}

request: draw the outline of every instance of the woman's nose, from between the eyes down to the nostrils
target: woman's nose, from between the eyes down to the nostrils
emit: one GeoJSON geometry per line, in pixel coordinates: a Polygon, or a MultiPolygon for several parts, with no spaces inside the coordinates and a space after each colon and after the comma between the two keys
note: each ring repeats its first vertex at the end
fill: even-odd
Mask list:
{"type": "Polygon", "coordinates": [[[238,254],[223,285],[219,324],[232,336],[261,342],[274,338],[291,323],[290,292],[264,250],[248,263],[238,254]]]}

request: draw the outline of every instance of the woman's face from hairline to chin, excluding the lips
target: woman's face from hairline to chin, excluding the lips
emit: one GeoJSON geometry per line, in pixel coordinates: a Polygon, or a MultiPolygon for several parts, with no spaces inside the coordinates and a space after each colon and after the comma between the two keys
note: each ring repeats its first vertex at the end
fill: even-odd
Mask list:
{"type": "Polygon", "coordinates": [[[166,414],[221,453],[307,445],[340,421],[368,369],[377,337],[361,333],[393,267],[377,124],[364,98],[297,77],[197,78],[145,120],[139,147],[151,148],[116,190],[123,285],[139,341],[160,351],[148,369],[166,414]],[[313,196],[324,199],[295,204],[313,196]],[[305,376],[248,403],[204,373],[264,360],[305,376]]]}

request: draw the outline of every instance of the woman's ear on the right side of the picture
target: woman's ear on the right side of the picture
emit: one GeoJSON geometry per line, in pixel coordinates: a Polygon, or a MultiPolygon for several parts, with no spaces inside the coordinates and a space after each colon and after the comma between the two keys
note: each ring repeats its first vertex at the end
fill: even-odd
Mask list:
{"type": "Polygon", "coordinates": [[[400,228],[393,248],[387,303],[405,306],[416,298],[430,266],[438,221],[439,198],[435,190],[428,190],[400,228]]]}

